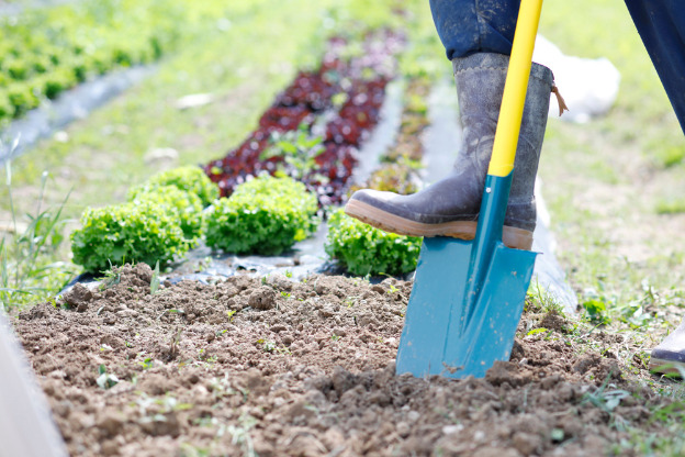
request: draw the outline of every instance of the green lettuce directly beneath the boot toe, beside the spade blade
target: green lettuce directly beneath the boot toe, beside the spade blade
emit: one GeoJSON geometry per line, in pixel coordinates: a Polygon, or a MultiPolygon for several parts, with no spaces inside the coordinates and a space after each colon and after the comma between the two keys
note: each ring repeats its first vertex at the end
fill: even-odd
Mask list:
{"type": "Polygon", "coordinates": [[[328,220],[326,253],[360,276],[401,275],[416,268],[422,238],[374,228],[338,210],[328,220]]]}

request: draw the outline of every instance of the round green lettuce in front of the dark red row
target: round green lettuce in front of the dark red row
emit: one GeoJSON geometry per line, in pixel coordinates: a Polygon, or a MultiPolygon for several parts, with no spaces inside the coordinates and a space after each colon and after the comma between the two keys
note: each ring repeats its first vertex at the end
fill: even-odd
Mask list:
{"type": "Polygon", "coordinates": [[[291,178],[262,175],[205,214],[206,244],[236,254],[278,255],[317,226],[316,197],[291,178]]]}

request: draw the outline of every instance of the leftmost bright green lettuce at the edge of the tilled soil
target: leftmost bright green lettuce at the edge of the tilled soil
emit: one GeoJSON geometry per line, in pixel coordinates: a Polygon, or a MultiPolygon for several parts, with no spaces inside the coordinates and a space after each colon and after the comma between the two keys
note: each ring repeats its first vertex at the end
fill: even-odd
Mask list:
{"type": "Polygon", "coordinates": [[[88,208],[71,233],[74,263],[88,271],[124,261],[165,266],[189,248],[176,215],[149,200],[88,208]]]}

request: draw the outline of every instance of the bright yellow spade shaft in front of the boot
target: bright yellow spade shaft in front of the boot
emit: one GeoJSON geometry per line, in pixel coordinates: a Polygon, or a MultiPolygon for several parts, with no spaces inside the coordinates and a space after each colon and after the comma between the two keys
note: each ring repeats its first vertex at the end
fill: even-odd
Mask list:
{"type": "Polygon", "coordinates": [[[518,132],[520,131],[532,62],[532,48],[538,33],[542,0],[523,0],[516,21],[512,57],[504,83],[499,120],[495,131],[492,158],[487,174],[505,177],[514,169],[518,132]]]}

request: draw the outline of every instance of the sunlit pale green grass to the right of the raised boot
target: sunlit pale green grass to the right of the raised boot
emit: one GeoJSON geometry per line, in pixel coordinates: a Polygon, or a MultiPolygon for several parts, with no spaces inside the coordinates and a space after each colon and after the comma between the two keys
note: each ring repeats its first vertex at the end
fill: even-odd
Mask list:
{"type": "MultiPolygon", "coordinates": [[[[548,0],[540,27],[564,54],[607,57],[621,74],[605,116],[548,123],[540,175],[558,255],[585,305],[573,320],[583,333],[622,334],[629,344],[615,350],[626,375],[669,397],[673,383],[647,375],[636,356],[648,360],[685,314],[675,219],[685,211],[683,132],[622,2],[548,0]]],[[[615,455],[682,455],[682,413],[652,413],[659,433],[628,426],[615,455]]]]}

